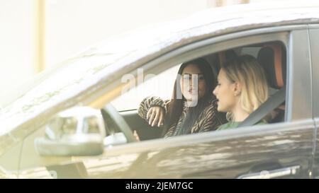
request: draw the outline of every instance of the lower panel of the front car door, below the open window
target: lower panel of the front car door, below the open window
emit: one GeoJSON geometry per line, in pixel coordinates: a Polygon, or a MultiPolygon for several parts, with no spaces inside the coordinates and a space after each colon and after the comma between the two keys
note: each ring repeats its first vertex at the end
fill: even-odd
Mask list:
{"type": "MultiPolygon", "coordinates": [[[[35,177],[31,174],[37,174],[40,168],[47,174],[55,168],[57,177],[67,177],[72,164],[82,165],[77,173],[86,175],[78,177],[92,178],[233,178],[239,177],[234,174],[292,165],[301,165],[301,173],[296,177],[307,177],[313,147],[309,140],[313,136],[312,123],[308,120],[276,124],[272,129],[262,125],[141,141],[106,148],[101,156],[74,157],[72,162],[47,168],[30,167],[21,171],[20,177],[35,177]]],[[[74,178],[74,174],[69,177],[74,178]]]]}

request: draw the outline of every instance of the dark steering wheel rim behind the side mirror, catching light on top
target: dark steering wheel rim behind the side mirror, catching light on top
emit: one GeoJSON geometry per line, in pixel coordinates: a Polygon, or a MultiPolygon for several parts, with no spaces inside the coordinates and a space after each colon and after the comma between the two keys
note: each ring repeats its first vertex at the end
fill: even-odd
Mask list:
{"type": "MultiPolygon", "coordinates": [[[[113,122],[125,135],[126,139],[128,140],[128,143],[137,141],[137,139],[133,135],[132,129],[130,129],[130,126],[128,126],[128,123],[120,115],[120,113],[118,113],[118,111],[113,107],[113,105],[111,105],[111,103],[108,103],[108,105],[103,107],[101,109],[101,112],[102,112],[102,115],[103,113],[106,113],[108,116],[111,117],[111,119],[113,119],[113,122]]],[[[106,121],[104,116],[103,116],[103,119],[104,121],[106,121]]]]}

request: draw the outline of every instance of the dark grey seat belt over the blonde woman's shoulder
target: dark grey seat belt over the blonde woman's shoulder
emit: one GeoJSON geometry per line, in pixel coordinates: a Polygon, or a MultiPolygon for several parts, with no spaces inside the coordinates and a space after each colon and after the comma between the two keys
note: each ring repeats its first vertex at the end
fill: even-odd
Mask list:
{"type": "Polygon", "coordinates": [[[262,118],[272,112],[281,103],[284,103],[286,99],[286,86],[283,86],[274,95],[268,98],[266,102],[262,103],[257,110],[254,110],[238,127],[247,127],[257,124],[262,118]]]}

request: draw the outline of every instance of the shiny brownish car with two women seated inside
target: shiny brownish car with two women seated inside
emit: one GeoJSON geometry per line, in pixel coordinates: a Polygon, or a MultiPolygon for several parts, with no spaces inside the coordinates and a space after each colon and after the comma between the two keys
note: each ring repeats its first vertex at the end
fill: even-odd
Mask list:
{"type": "MultiPolygon", "coordinates": [[[[318,178],[318,52],[315,1],[211,8],[110,37],[1,101],[0,176],[318,178]],[[242,127],[162,139],[160,128],[138,116],[138,103],[129,107],[129,99],[142,98],[158,85],[135,95],[133,90],[165,71],[176,71],[181,62],[204,57],[217,74],[234,54],[256,57],[272,90],[242,127]],[[141,69],[155,76],[136,80],[141,69]],[[127,108],[119,110],[116,104],[127,108]],[[94,117],[98,137],[89,140],[91,133],[77,132],[77,124],[50,127],[70,110],[68,119],[92,112],[87,116],[94,117]],[[276,115],[269,124],[252,124],[269,113],[276,115]],[[71,137],[50,137],[50,131],[71,137]]],[[[164,93],[171,95],[170,90],[164,93]]]]}

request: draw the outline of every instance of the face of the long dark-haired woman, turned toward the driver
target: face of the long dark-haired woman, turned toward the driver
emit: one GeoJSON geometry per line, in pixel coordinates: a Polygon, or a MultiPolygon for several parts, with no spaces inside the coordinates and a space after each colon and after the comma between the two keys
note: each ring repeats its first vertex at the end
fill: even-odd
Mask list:
{"type": "Polygon", "coordinates": [[[187,101],[194,102],[206,93],[206,82],[201,70],[194,64],[185,67],[181,74],[181,93],[187,101]]]}

